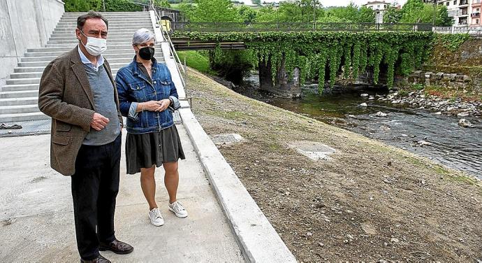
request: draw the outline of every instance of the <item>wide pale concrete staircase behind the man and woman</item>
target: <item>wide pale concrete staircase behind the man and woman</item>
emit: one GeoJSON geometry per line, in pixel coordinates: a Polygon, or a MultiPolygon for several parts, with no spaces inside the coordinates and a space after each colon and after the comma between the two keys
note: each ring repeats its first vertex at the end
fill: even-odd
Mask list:
{"type": "MultiPolygon", "coordinates": [[[[38,110],[38,85],[43,69],[52,59],[78,44],[75,38],[77,17],[83,13],[64,13],[44,48],[27,50],[14,73],[0,88],[0,122],[48,120],[38,110]]],[[[104,57],[114,74],[129,64],[134,56],[133,33],[142,27],[153,31],[149,12],[103,13],[109,21],[108,50],[104,57]]],[[[161,48],[156,47],[156,59],[163,62],[161,48]]]]}

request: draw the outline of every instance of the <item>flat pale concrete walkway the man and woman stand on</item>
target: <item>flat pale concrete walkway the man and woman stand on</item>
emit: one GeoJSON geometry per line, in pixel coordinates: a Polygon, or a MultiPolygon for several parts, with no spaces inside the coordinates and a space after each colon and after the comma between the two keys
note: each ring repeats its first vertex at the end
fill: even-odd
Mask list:
{"type": "MultiPolygon", "coordinates": [[[[161,168],[156,200],[166,224],[150,225],[139,175],[126,175],[123,152],[116,236],[134,252],[102,255],[113,262],[244,262],[184,127],[177,129],[187,158],[180,161],[178,197],[189,217],[168,211],[161,168]]],[[[79,261],[71,180],[50,169],[49,143],[50,135],[0,138],[0,262],[79,261]]]]}

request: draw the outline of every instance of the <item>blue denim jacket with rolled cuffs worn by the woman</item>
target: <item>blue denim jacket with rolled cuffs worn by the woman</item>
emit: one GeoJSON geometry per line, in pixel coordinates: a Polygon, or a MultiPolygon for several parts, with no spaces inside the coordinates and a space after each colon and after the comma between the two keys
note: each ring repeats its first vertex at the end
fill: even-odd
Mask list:
{"type": "Polygon", "coordinates": [[[166,65],[152,59],[152,83],[149,83],[134,57],[131,64],[119,69],[115,82],[120,111],[127,118],[127,132],[147,134],[174,125],[173,110],[180,108],[180,103],[176,87],[166,65]],[[171,99],[173,104],[162,112],[141,111],[136,113],[138,103],[160,101],[161,99],[171,99]]]}

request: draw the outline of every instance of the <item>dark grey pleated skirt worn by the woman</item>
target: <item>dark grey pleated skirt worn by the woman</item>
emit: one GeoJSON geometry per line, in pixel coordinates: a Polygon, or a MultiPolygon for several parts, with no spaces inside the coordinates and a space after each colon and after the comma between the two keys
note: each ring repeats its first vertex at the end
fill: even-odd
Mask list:
{"type": "Polygon", "coordinates": [[[127,173],[139,173],[141,168],[156,167],[165,162],[186,159],[175,125],[149,134],[127,134],[127,173]]]}

